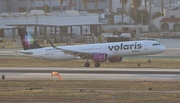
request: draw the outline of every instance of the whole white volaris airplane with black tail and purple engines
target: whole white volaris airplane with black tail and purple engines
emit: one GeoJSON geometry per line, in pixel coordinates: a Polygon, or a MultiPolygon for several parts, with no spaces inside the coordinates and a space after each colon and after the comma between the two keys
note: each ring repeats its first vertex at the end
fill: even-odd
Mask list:
{"type": "Polygon", "coordinates": [[[42,47],[25,29],[19,28],[18,35],[24,48],[17,53],[18,55],[55,61],[85,59],[85,67],[90,67],[89,60],[95,62],[95,67],[100,67],[100,62],[121,62],[122,57],[139,55],[147,55],[147,62],[150,63],[149,55],[166,50],[165,46],[151,40],[69,46],[55,46],[49,41],[51,47],[42,47]]]}

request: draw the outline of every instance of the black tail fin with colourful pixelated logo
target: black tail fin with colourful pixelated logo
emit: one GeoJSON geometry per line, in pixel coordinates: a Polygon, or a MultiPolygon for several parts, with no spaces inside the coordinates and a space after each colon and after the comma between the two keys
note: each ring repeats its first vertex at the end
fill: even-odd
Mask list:
{"type": "Polygon", "coordinates": [[[21,38],[24,50],[42,48],[24,28],[18,29],[18,35],[21,38]]]}

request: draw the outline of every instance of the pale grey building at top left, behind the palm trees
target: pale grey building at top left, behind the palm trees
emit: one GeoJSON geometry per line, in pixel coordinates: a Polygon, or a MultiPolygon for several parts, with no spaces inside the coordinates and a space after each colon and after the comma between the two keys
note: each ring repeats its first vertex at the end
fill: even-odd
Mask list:
{"type": "MultiPolygon", "coordinates": [[[[99,0],[98,11],[104,12],[109,6],[109,0],[99,0]]],[[[59,0],[0,0],[0,13],[3,12],[30,12],[30,10],[44,10],[47,12],[60,11],[59,0]]],[[[64,0],[62,3],[64,10],[84,10],[84,4],[81,0],[64,0]]],[[[87,10],[95,9],[95,0],[89,0],[87,10]]]]}

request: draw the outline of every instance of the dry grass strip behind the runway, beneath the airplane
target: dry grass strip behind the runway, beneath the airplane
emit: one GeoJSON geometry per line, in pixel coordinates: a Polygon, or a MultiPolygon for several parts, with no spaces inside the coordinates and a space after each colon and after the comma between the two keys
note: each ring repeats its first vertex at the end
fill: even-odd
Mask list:
{"type": "MultiPolygon", "coordinates": [[[[146,57],[142,58],[124,58],[122,62],[103,62],[103,68],[180,68],[180,59],[171,58],[151,58],[152,62],[147,63],[146,57]],[[138,62],[140,67],[138,67],[138,62]]],[[[76,61],[48,61],[33,58],[0,58],[0,67],[84,67],[85,60],[76,61]]],[[[90,61],[91,67],[94,62],[90,61]]]]}

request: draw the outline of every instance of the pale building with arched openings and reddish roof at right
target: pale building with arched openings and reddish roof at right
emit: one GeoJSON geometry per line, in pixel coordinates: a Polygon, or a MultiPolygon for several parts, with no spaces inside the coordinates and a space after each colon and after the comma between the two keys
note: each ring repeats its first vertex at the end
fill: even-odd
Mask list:
{"type": "Polygon", "coordinates": [[[151,21],[154,31],[180,32],[180,5],[164,9],[164,16],[151,21]]]}

